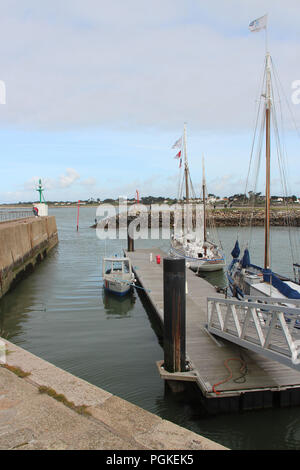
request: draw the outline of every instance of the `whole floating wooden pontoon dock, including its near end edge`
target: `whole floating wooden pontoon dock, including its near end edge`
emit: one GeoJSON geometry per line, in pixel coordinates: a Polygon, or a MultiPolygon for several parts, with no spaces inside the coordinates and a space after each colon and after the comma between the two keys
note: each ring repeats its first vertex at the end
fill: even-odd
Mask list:
{"type": "MultiPolygon", "coordinates": [[[[163,327],[163,258],[166,253],[152,248],[126,252],[126,255],[132,261],[138,285],[143,288],[138,291],[146,295],[163,327]],[[157,255],[161,257],[161,264],[156,263],[157,255]]],[[[299,405],[300,373],[212,336],[206,329],[207,298],[224,298],[224,295],[218,294],[190,269],[186,270],[186,280],[186,353],[191,370],[171,374],[164,371],[161,361],[158,364],[161,377],[168,382],[193,381],[206,406],[215,411],[299,405]]]]}

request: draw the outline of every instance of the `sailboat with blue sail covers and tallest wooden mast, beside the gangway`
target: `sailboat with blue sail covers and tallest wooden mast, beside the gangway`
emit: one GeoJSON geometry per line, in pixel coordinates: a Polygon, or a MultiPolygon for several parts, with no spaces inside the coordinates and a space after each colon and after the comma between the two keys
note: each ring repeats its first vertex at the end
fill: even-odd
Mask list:
{"type": "MultiPolygon", "coordinates": [[[[266,29],[266,18],[262,17],[256,22],[250,23],[251,31],[259,31],[266,29]],[[261,27],[261,25],[264,25],[261,27]],[[251,29],[257,28],[257,29],[251,29]]],[[[267,33],[266,33],[267,34],[267,33]]],[[[264,80],[262,85],[261,100],[258,108],[258,115],[261,115],[261,131],[258,137],[259,142],[259,159],[262,153],[262,142],[265,140],[265,209],[264,209],[264,260],[262,265],[258,266],[251,263],[249,246],[246,245],[242,256],[239,239],[237,239],[234,249],[231,252],[232,261],[228,267],[227,278],[229,283],[230,292],[234,297],[242,300],[245,296],[266,297],[270,300],[277,299],[278,301],[284,299],[300,299],[300,285],[299,285],[299,264],[294,263],[295,279],[273,272],[271,269],[271,255],[270,255],[270,179],[271,179],[271,122],[274,124],[274,134],[276,136],[275,142],[277,146],[277,153],[280,158],[283,155],[280,148],[281,139],[278,136],[278,126],[276,119],[276,103],[273,89],[273,79],[275,71],[271,55],[266,50],[264,80]]],[[[277,78],[277,77],[276,77],[277,78]]],[[[276,84],[276,83],[275,83],[276,84]]],[[[257,121],[258,122],[258,119],[257,121]]],[[[254,136],[255,138],[255,136],[254,136]]],[[[253,149],[253,147],[252,147],[253,149]]],[[[252,155],[251,155],[252,157],[252,155]]],[[[279,162],[280,159],[278,158],[279,162]]],[[[281,174],[284,176],[284,171],[281,168],[281,174]]],[[[283,182],[286,185],[286,182],[283,182]]],[[[286,186],[285,186],[286,187],[286,186]]],[[[269,300],[269,301],[270,301],[269,300]]],[[[296,302],[295,302],[296,303],[296,302]]]]}

